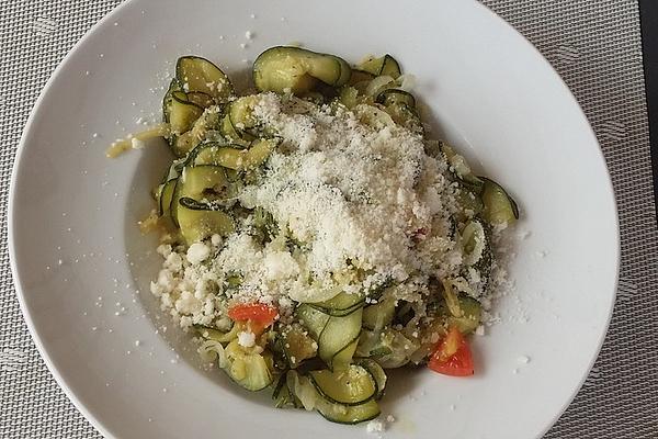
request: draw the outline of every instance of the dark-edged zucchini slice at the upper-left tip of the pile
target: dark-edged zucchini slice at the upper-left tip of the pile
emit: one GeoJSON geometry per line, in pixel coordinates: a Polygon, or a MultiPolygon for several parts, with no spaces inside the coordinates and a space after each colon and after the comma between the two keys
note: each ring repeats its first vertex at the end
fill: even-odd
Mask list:
{"type": "Polygon", "coordinates": [[[234,94],[228,77],[213,63],[198,56],[183,56],[175,63],[175,78],[188,92],[202,92],[217,103],[227,102],[234,94]]]}

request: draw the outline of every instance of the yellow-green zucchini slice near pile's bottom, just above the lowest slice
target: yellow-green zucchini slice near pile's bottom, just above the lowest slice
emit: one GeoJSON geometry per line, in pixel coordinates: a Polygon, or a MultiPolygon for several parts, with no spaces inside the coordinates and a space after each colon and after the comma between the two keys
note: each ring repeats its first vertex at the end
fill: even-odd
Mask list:
{"type": "Polygon", "coordinates": [[[310,371],[308,376],[320,396],[333,404],[360,405],[377,395],[373,375],[358,364],[341,371],[310,371]]]}

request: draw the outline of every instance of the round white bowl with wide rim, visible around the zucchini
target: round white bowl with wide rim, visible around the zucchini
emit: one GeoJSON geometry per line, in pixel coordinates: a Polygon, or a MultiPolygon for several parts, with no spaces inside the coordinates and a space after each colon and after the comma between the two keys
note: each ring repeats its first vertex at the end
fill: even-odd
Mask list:
{"type": "Polygon", "coordinates": [[[531,233],[517,244],[517,288],[497,305],[500,324],[474,341],[477,374],[394,374],[383,405],[397,420],[386,437],[541,437],[603,340],[619,267],[616,210],[567,87],[475,1],[133,0],[94,26],[42,93],[11,187],[16,290],[50,371],[107,437],[365,436],[276,410],[266,395],[193,367],[186,338],[148,293],[160,263],[155,237],[135,225],[150,209],[166,149],[104,156],[122,127],[138,130],[140,111],[159,112],[162,72],[178,56],[200,54],[234,75],[249,66],[243,59],[293,41],[352,61],[398,57],[435,124],[510,189],[523,211],[519,230],[531,233]]]}

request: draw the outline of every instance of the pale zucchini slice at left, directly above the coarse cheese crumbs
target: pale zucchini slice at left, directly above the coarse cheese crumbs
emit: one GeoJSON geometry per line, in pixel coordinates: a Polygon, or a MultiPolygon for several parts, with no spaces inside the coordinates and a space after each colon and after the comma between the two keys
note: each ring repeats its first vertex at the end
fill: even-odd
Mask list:
{"type": "Polygon", "coordinates": [[[227,236],[235,230],[230,215],[214,211],[207,204],[183,198],[179,200],[178,222],[188,245],[204,240],[215,234],[227,236]]]}

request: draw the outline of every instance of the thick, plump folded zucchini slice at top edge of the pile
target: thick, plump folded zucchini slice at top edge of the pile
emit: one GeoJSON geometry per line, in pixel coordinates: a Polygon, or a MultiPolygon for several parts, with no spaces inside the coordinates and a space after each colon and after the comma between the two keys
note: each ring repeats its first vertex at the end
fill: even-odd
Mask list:
{"type": "Polygon", "coordinates": [[[253,82],[259,91],[302,94],[314,90],[318,81],[340,87],[350,79],[344,59],[299,47],[272,47],[253,63],[253,82]]]}

